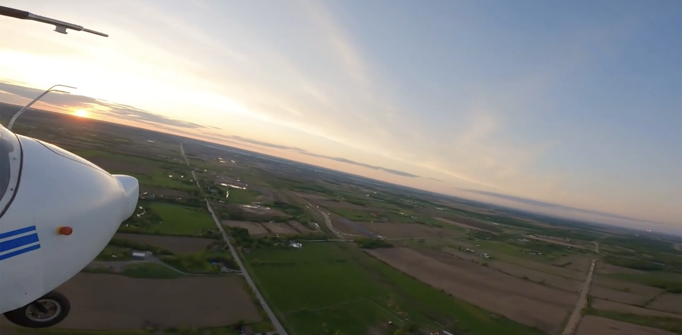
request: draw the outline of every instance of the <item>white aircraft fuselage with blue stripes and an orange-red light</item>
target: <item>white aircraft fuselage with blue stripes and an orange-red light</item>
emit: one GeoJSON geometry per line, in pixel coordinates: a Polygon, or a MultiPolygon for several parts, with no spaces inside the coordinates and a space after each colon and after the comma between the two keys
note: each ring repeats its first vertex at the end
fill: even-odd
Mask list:
{"type": "MultiPolygon", "coordinates": [[[[25,306],[90,263],[137,205],[138,181],[54,145],[15,136],[0,199],[0,313],[25,306]],[[8,197],[9,196],[9,197],[8,197]],[[59,227],[71,235],[59,235],[59,227]]],[[[3,144],[3,143],[0,143],[3,144]]],[[[0,152],[0,156],[5,153],[0,152]]],[[[0,157],[0,164],[5,158],[0,157]]],[[[0,169],[0,173],[3,171],[0,169]]]]}

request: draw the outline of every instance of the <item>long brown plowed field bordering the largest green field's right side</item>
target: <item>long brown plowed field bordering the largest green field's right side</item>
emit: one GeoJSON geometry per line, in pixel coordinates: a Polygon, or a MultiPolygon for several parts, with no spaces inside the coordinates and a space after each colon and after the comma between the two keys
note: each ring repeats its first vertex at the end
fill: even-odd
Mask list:
{"type": "Polygon", "coordinates": [[[443,263],[409,248],[366,250],[398,270],[466,302],[554,334],[578,295],[535,284],[471,261],[443,263]]]}

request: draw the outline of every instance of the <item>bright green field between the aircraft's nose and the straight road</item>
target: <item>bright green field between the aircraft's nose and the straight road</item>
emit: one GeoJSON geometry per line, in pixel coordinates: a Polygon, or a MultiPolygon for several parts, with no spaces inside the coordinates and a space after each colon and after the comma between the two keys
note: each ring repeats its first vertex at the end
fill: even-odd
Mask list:
{"type": "Polygon", "coordinates": [[[161,218],[161,223],[145,227],[143,232],[164,235],[198,235],[205,229],[216,229],[211,214],[203,209],[170,203],[151,203],[149,207],[161,218]]]}

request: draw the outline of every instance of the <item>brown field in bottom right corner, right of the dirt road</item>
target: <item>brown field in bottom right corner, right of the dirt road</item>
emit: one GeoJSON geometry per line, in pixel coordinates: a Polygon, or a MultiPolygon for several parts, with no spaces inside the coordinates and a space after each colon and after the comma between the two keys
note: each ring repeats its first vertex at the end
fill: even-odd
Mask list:
{"type": "Polygon", "coordinates": [[[580,319],[576,335],[675,335],[643,325],[585,315],[580,319]]]}

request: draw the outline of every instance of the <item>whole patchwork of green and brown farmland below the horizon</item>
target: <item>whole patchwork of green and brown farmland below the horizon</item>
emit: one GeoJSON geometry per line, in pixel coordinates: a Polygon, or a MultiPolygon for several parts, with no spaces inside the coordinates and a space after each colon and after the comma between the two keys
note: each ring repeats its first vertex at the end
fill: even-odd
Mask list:
{"type": "Polygon", "coordinates": [[[194,334],[179,329],[196,327],[197,334],[232,335],[238,331],[228,326],[240,319],[258,332],[273,330],[234,274],[235,259],[204,197],[291,335],[559,334],[595,258],[590,304],[576,334],[682,329],[682,240],[463,201],[175,135],[93,120],[55,124],[17,129],[140,181],[134,216],[87,268],[106,274],[79,274],[61,288],[76,306],[61,325],[67,334],[147,335],[143,328],[158,325],[166,334],[194,334]],[[336,235],[346,242],[330,242],[336,235]],[[140,261],[132,250],[151,256],[140,261]]]}

